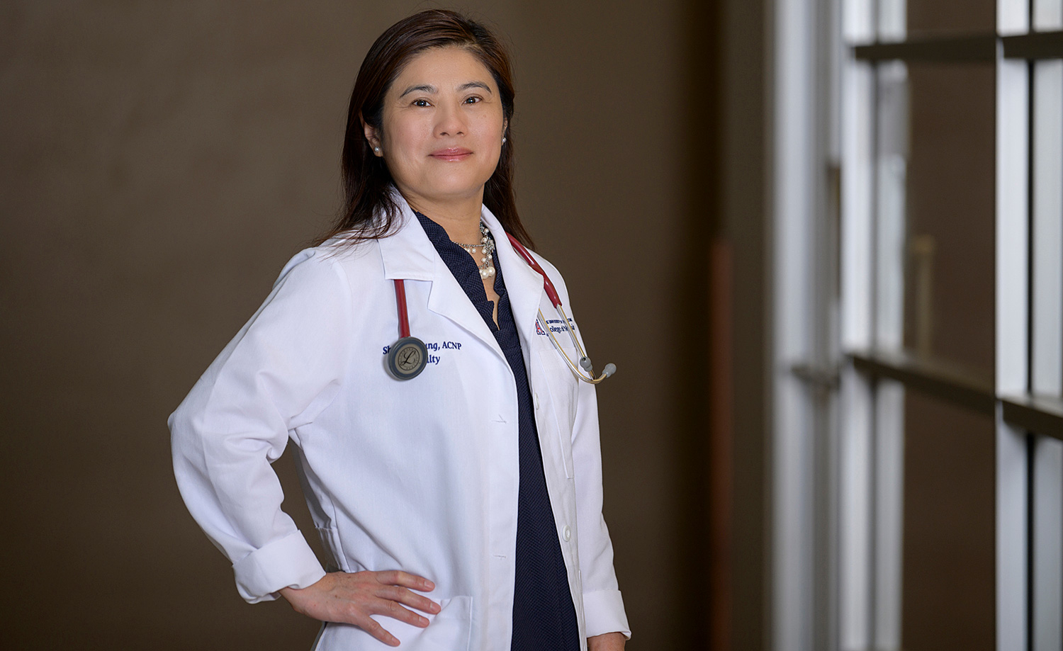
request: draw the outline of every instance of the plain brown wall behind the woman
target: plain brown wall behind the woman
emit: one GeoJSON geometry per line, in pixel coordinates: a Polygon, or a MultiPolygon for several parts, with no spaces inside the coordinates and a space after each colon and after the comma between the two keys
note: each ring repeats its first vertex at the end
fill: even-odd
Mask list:
{"type": "MultiPolygon", "coordinates": [[[[0,6],[0,645],[309,647],[313,622],[237,596],[178,495],[165,419],[326,223],[357,66],[426,5],[0,6]]],[[[691,236],[714,219],[718,92],[688,101],[718,27],[690,7],[462,4],[512,41],[519,205],[598,365],[619,366],[600,390],[605,510],[636,651],[705,640],[706,384],[681,364],[706,312],[676,306],[708,286],[691,236]]]]}

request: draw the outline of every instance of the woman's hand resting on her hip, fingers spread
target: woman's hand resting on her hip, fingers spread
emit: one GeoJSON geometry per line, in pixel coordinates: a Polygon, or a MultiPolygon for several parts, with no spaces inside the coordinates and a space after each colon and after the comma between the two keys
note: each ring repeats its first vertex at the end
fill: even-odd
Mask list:
{"type": "Polygon", "coordinates": [[[370,615],[387,615],[423,629],[428,626],[428,620],[400,604],[433,615],[439,612],[439,604],[408,588],[428,593],[436,585],[423,577],[396,570],[328,572],[303,589],[283,587],[281,596],[297,613],[321,621],[353,623],[382,643],[398,647],[395,636],[370,615]]]}

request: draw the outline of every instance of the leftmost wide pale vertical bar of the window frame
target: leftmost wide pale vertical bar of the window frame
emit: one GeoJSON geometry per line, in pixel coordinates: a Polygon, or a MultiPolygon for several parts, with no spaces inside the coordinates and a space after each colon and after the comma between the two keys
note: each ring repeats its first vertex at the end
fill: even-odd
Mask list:
{"type": "Polygon", "coordinates": [[[815,0],[775,4],[774,441],[772,647],[812,651],[815,421],[811,391],[787,369],[813,359],[810,241],[815,210],[815,0]]]}

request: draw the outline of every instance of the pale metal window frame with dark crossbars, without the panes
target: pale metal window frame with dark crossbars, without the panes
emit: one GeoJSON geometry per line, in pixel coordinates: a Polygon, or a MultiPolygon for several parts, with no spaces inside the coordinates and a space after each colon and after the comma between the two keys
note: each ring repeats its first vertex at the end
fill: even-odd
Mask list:
{"type": "MultiPolygon", "coordinates": [[[[897,567],[882,556],[900,552],[881,549],[882,541],[891,539],[887,529],[899,517],[896,486],[885,485],[896,478],[891,480],[881,463],[889,440],[883,432],[899,427],[887,414],[902,405],[902,395],[883,390],[890,386],[995,418],[996,647],[1043,651],[1059,648],[1063,639],[1059,609],[1039,609],[1034,598],[1058,595],[1063,602],[1063,576],[1047,592],[1034,585],[1034,577],[1044,573],[1037,563],[1063,558],[1063,537],[1056,532],[1063,527],[1063,513],[1049,518],[1047,528],[1034,526],[1063,500],[1063,468],[1037,469],[1054,467],[1039,456],[1039,449],[1054,448],[1039,442],[1063,441],[1063,391],[1034,392],[1032,378],[1035,364],[1044,366],[1044,356],[1035,357],[1034,348],[1063,356],[1063,338],[1056,337],[1063,329],[1061,319],[1047,319],[1049,336],[1035,335],[1033,327],[1035,319],[1046,322],[1042,314],[1063,309],[1059,282],[1042,282],[1049,289],[1034,293],[1039,277],[1063,268],[1063,242],[1045,253],[1034,237],[1037,228],[1063,232],[1059,224],[1045,230],[1035,221],[1035,184],[1044,182],[1034,175],[1046,165],[1034,159],[1033,151],[1035,67],[1063,59],[1063,25],[1037,23],[1035,10],[1045,4],[1037,2],[998,0],[994,33],[918,38],[906,38],[897,28],[902,0],[899,10],[895,0],[776,3],[773,631],[780,651],[899,648],[901,622],[891,601],[899,599],[900,586],[890,576],[897,567]],[[841,18],[817,23],[816,12],[824,6],[841,18]],[[892,16],[887,30],[876,24],[882,16],[892,16]],[[1037,24],[1049,29],[1037,30],[1037,24]],[[825,29],[833,30],[826,38],[825,29]],[[996,364],[991,375],[875,345],[876,316],[882,311],[876,267],[881,260],[875,255],[875,71],[893,61],[992,63],[996,68],[996,364]],[[817,112],[829,116],[826,125],[810,117],[817,112]],[[839,196],[831,196],[832,188],[839,196]],[[829,235],[834,224],[841,228],[837,242],[829,235]],[[824,278],[838,284],[837,296],[822,291],[824,278]],[[810,286],[821,290],[800,289],[810,286]],[[816,332],[837,335],[824,342],[816,332]],[[1046,337],[1058,341],[1048,346],[1046,337]],[[808,522],[814,533],[802,534],[808,522]],[[824,609],[828,615],[817,615],[824,609]]],[[[1063,106],[1063,98],[1057,105],[1063,106]]],[[[1058,131],[1063,133],[1063,122],[1058,131]]],[[[1058,219],[1063,223],[1063,215],[1058,219]]],[[[1059,369],[1063,383],[1063,360],[1049,366],[1059,369]]],[[[1058,563],[1050,568],[1057,569],[1058,563]]]]}

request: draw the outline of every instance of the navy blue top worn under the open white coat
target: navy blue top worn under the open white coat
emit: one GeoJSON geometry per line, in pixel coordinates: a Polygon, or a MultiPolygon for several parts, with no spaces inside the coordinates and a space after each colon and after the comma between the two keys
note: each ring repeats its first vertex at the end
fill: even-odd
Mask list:
{"type": "Polygon", "coordinates": [[[569,577],[546,493],[542,451],[532,408],[532,389],[521,354],[521,339],[509,306],[509,294],[502,280],[502,267],[495,256],[494,291],[499,294],[499,323],[495,325],[494,304],[487,299],[484,279],[472,256],[452,242],[442,226],[420,212],[417,212],[417,219],[439,252],[439,257],[491,329],[506,355],[517,383],[520,489],[517,495],[517,580],[511,649],[578,651],[576,609],[569,592],[569,577]]]}

